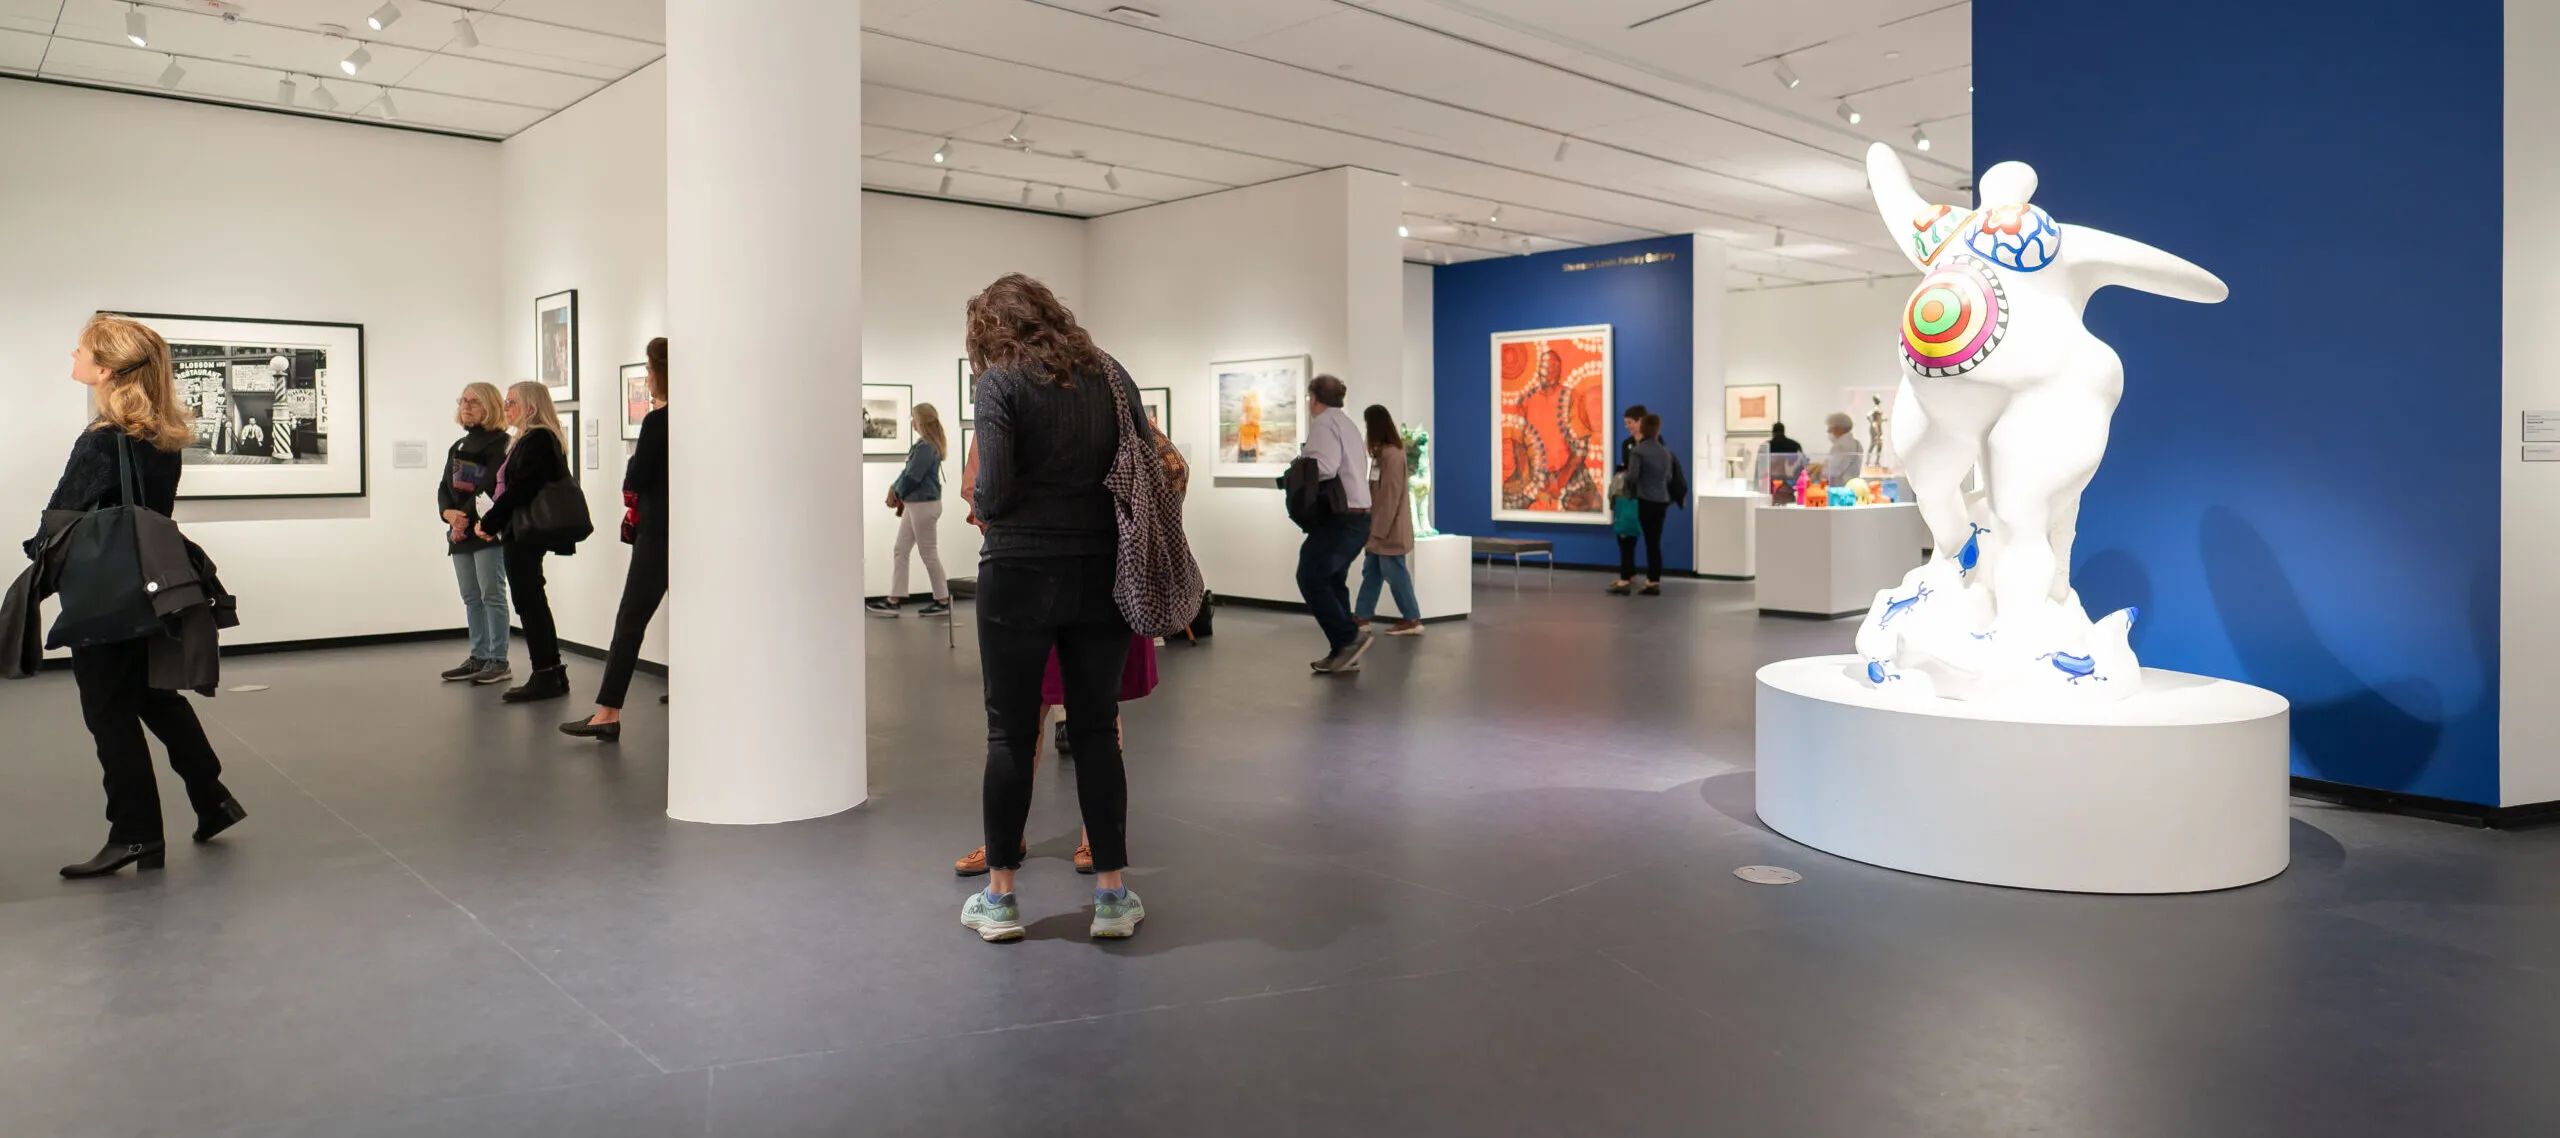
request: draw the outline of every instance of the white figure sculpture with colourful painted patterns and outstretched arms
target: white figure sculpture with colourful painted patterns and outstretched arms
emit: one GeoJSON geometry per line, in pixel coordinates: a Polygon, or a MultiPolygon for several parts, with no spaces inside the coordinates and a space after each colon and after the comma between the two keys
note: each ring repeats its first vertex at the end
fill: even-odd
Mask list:
{"type": "Polygon", "coordinates": [[[1928,274],[1902,309],[1889,430],[1938,547],[1859,627],[1866,683],[1946,698],[2132,696],[2138,614],[2092,621],[2071,591],[2081,491],[2125,394],[2122,361],[2081,309],[2109,284],[2204,304],[2230,289],[2138,240],[2056,225],[2028,205],[2035,171],[2017,161],[1981,174],[1971,212],[1923,202],[1884,143],[1866,151],[1866,182],[1928,274]]]}

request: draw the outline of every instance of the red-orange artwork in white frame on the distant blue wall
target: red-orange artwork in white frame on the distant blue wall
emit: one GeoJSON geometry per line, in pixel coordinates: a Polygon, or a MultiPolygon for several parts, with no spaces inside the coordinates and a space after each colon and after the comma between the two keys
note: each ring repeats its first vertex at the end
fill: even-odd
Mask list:
{"type": "Polygon", "coordinates": [[[1492,335],[1492,519],[1608,524],[1610,325],[1492,335]]]}

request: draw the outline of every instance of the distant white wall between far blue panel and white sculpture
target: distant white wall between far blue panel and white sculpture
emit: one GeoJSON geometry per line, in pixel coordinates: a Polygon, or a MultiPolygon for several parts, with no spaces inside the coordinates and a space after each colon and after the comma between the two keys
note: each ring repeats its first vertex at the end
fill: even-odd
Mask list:
{"type": "MultiPolygon", "coordinates": [[[[1894,355],[1894,327],[1910,279],[1874,284],[1807,284],[1792,289],[1748,289],[1725,294],[1725,384],[1777,384],[1779,417],[1787,435],[1812,450],[1823,437],[1823,417],[1848,409],[1848,389],[1902,384],[1894,355]]],[[[1723,394],[1700,396],[1700,414],[1723,417],[1723,394]]],[[[1866,437],[1866,417],[1859,437],[1866,437]]],[[[1723,427],[1723,422],[1718,422],[1723,427]]]]}

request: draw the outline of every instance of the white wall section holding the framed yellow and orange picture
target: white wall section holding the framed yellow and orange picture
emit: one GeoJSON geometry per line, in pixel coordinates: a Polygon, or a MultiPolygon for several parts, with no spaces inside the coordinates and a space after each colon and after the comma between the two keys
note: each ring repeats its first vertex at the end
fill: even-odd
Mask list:
{"type": "Polygon", "coordinates": [[[1395,189],[1390,174],[1329,169],[1085,225],[1078,312],[1139,386],[1172,389],[1172,440],[1198,471],[1183,517],[1219,593],[1295,601],[1303,534],[1270,478],[1211,478],[1211,361],[1303,353],[1352,386],[1354,409],[1408,414],[1395,189]]]}

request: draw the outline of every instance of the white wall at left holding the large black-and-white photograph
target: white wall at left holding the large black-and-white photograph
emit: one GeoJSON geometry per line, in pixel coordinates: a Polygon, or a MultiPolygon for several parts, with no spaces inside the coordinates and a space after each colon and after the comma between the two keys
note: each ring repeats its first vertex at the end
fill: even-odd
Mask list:
{"type": "Polygon", "coordinates": [[[177,517],[241,598],[230,644],[458,629],[435,465],[453,391],[497,358],[499,148],[0,82],[0,532],[33,532],[87,422],[69,353],[90,312],[358,322],[369,496],[177,517]],[[430,463],[394,471],[392,440],[430,440],[430,463]]]}

